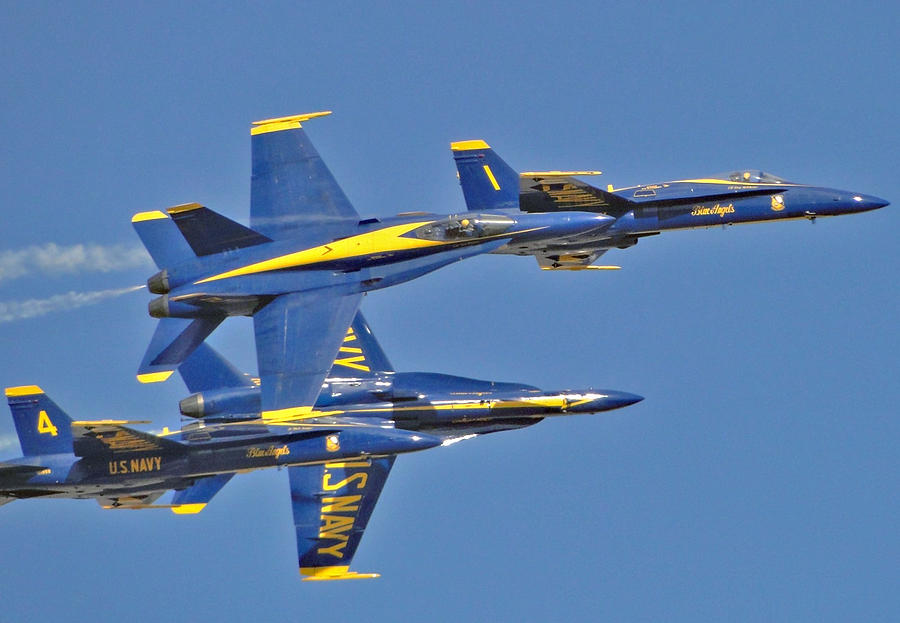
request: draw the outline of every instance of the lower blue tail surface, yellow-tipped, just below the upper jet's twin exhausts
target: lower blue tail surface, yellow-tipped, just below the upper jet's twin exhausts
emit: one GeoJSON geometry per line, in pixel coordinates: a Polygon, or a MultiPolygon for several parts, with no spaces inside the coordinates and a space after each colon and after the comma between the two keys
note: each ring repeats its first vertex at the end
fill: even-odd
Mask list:
{"type": "Polygon", "coordinates": [[[159,383],[168,379],[223,320],[225,316],[160,318],[138,368],[138,381],[159,383]]]}

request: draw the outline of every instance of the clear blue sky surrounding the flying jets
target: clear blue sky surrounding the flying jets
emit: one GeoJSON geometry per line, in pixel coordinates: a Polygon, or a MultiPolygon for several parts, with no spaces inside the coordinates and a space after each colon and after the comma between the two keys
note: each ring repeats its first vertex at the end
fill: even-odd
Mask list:
{"type": "MultiPolygon", "coordinates": [[[[0,382],[178,426],[180,380],[134,379],[145,291],[19,317],[143,283],[135,212],[246,222],[266,117],[335,111],[306,127],[363,215],[464,209],[449,142],[473,138],[616,186],[758,167],[897,203],[898,27],[874,2],[2,2],[0,382]]],[[[275,470],[197,516],[14,502],[0,621],[896,621],[897,210],[373,293],[399,370],[646,400],[402,457],[372,581],[300,582],[275,470]]],[[[249,321],[211,342],[254,370],[249,321]]]]}

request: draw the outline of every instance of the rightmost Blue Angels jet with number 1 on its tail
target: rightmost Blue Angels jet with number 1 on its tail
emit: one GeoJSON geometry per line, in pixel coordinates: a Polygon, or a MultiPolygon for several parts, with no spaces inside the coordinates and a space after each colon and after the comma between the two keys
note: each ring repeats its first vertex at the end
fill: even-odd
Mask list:
{"type": "Polygon", "coordinates": [[[586,171],[516,173],[482,140],[450,145],[466,206],[495,214],[590,212],[612,219],[602,230],[556,243],[510,240],[492,253],[533,255],[544,270],[614,269],[593,263],[609,249],[647,236],[785,219],[815,220],[888,205],[872,195],[788,182],[755,169],[625,188],[601,189],[579,179],[586,171]]]}

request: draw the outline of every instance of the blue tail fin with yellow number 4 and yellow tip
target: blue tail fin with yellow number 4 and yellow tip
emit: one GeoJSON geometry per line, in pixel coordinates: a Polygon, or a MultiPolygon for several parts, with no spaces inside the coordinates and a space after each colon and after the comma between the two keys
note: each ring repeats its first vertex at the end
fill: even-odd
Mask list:
{"type": "Polygon", "coordinates": [[[37,385],[7,387],[24,456],[72,452],[72,418],[50,400],[37,385]]]}

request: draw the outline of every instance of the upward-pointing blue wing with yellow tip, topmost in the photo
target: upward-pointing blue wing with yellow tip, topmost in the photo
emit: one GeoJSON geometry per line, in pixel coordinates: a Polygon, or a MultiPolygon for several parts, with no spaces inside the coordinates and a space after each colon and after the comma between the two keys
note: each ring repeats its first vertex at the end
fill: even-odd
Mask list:
{"type": "Polygon", "coordinates": [[[250,227],[272,239],[347,235],[359,214],[338,186],[301,122],[330,111],[256,121],[250,131],[253,164],[250,227]]]}

